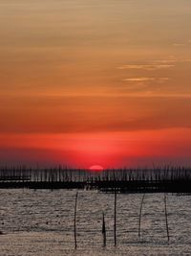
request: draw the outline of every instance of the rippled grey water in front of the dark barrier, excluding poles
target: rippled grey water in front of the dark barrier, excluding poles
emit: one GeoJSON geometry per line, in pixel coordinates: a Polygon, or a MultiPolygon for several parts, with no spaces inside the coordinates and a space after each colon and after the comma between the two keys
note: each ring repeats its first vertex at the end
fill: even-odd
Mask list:
{"type": "Polygon", "coordinates": [[[191,197],[167,195],[170,242],[167,242],[164,195],[146,194],[141,236],[141,194],[117,194],[117,246],[114,246],[114,195],[79,191],[77,249],[74,250],[75,190],[0,190],[0,255],[190,255],[191,197]],[[103,247],[102,212],[107,246],[103,247]]]}

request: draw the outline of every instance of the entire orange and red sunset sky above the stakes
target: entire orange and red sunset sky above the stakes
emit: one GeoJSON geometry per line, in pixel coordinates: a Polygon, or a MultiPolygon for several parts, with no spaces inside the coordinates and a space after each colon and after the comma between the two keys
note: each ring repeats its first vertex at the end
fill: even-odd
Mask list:
{"type": "Polygon", "coordinates": [[[190,165],[190,13],[190,0],[0,0],[0,165],[190,165]]]}

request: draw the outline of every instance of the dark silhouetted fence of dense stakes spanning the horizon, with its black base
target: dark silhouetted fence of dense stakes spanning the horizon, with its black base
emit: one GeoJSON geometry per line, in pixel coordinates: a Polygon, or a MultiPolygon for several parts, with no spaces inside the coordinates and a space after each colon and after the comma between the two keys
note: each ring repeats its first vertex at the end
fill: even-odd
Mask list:
{"type": "Polygon", "coordinates": [[[0,188],[97,189],[107,193],[191,193],[191,168],[108,169],[1,167],[0,188]]]}

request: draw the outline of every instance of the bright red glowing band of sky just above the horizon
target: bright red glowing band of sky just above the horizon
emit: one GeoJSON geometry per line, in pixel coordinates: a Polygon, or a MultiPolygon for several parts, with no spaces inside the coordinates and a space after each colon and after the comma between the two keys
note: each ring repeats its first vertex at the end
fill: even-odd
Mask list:
{"type": "Polygon", "coordinates": [[[2,163],[63,164],[89,169],[188,165],[191,158],[189,128],[129,132],[73,134],[3,134],[0,136],[2,163]],[[11,159],[11,160],[10,160],[11,159]]]}

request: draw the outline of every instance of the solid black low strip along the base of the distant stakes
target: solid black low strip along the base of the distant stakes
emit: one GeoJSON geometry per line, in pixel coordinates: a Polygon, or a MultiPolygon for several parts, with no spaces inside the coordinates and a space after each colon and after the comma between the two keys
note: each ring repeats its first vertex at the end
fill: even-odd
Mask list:
{"type": "Polygon", "coordinates": [[[1,189],[97,189],[106,193],[177,193],[191,194],[190,180],[176,181],[94,181],[94,182],[0,182],[1,189]]]}

